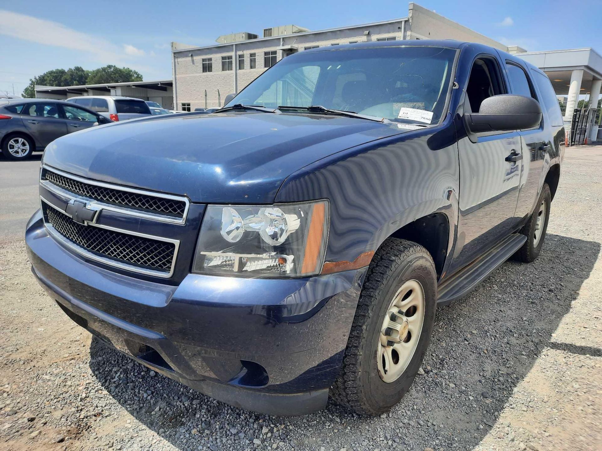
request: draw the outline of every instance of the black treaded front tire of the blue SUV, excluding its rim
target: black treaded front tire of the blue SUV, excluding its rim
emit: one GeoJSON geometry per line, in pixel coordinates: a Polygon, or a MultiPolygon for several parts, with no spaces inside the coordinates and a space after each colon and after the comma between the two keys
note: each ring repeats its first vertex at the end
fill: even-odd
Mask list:
{"type": "Polygon", "coordinates": [[[359,414],[379,415],[402,399],[420,369],[435,321],[437,277],[435,264],[422,246],[389,238],[374,255],[359,296],[341,372],[330,396],[359,414]],[[424,291],[423,328],[408,366],[394,382],[384,382],[377,368],[377,350],[389,304],[408,280],[420,282],[424,291]]]}

